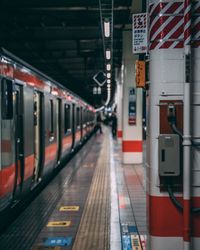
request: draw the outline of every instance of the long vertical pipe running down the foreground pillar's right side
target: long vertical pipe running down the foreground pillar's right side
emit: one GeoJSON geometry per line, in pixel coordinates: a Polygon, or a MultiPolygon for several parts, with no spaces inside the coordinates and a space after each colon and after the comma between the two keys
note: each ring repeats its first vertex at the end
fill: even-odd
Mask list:
{"type": "Polygon", "coordinates": [[[184,121],[183,121],[183,249],[191,249],[191,128],[190,128],[190,96],[191,96],[191,2],[184,0],[184,121]]]}

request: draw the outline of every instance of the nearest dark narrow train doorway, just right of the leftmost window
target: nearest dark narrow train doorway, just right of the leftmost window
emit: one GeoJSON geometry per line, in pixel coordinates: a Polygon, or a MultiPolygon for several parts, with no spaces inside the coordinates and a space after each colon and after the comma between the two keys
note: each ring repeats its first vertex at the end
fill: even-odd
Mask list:
{"type": "Polygon", "coordinates": [[[23,86],[15,85],[14,91],[15,116],[15,186],[13,198],[20,195],[24,182],[24,117],[23,117],[23,86]]]}

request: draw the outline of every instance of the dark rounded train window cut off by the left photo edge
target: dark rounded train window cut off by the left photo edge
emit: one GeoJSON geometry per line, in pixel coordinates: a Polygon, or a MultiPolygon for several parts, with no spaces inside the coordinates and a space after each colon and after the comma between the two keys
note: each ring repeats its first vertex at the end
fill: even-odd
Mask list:
{"type": "Polygon", "coordinates": [[[6,79],[1,83],[1,114],[3,120],[13,119],[13,84],[6,79]]]}

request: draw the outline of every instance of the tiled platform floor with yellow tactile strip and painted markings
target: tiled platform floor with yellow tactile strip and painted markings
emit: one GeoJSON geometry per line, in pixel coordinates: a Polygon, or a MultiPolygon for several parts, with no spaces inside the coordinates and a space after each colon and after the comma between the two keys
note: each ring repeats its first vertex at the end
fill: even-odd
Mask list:
{"type": "Polygon", "coordinates": [[[123,165],[120,141],[103,132],[0,236],[0,249],[146,249],[144,166],[123,165]]]}

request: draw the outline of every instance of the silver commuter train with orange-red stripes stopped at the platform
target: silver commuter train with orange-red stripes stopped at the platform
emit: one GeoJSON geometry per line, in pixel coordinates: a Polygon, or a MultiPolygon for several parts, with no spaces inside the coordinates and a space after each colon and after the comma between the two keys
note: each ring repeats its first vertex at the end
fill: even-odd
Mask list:
{"type": "Polygon", "coordinates": [[[95,109],[0,50],[0,214],[22,200],[95,128],[95,109]]]}

